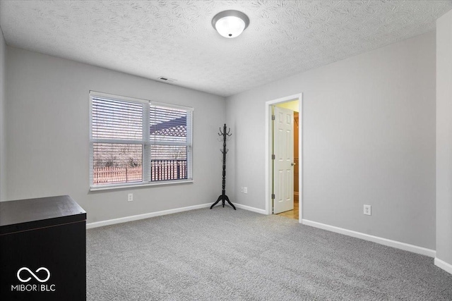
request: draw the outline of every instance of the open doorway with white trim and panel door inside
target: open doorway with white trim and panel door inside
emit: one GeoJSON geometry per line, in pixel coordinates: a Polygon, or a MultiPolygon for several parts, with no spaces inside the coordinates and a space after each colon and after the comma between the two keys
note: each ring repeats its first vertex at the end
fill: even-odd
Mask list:
{"type": "Polygon", "coordinates": [[[300,222],[301,125],[302,94],[266,102],[266,211],[267,214],[280,214],[300,222]]]}

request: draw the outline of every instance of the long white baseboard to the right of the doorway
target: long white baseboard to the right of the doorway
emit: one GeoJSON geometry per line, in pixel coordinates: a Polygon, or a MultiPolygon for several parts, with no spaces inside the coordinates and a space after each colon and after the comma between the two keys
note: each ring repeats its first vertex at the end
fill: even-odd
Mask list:
{"type": "Polygon", "coordinates": [[[302,223],[307,226],[312,226],[316,228],[321,228],[323,230],[340,233],[354,238],[360,238],[362,240],[369,240],[371,242],[379,243],[380,245],[387,245],[388,247],[395,247],[400,250],[405,250],[417,254],[427,255],[429,257],[435,257],[436,251],[430,250],[425,247],[418,247],[417,245],[410,245],[405,242],[398,242],[396,240],[388,240],[387,238],[379,238],[378,236],[369,235],[357,231],[351,231],[344,228],[339,228],[335,226],[326,225],[325,223],[317,223],[316,221],[309,221],[307,219],[302,219],[302,223]]]}

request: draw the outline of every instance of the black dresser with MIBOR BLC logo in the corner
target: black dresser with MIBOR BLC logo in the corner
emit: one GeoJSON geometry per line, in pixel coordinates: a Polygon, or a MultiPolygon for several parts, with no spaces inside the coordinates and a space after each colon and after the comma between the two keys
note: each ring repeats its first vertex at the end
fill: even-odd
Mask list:
{"type": "Polygon", "coordinates": [[[86,300],[86,212],[69,195],[0,202],[0,299],[86,300]]]}

